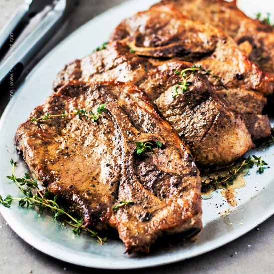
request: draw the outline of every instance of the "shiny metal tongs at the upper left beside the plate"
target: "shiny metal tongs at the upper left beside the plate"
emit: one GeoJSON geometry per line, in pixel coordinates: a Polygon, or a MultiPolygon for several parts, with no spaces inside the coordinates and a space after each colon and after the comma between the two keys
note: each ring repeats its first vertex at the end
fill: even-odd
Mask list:
{"type": "Polygon", "coordinates": [[[23,69],[32,60],[32,57],[50,39],[54,30],[56,30],[56,27],[60,24],[67,7],[67,0],[25,0],[18,8],[3,29],[0,30],[0,59],[4,56],[4,50],[7,49],[10,51],[0,64],[1,86],[4,82],[8,81],[11,72],[12,74],[16,73],[15,81],[19,78],[23,69]],[[15,30],[26,26],[33,16],[45,9],[46,12],[31,33],[14,49],[11,48],[10,46],[13,44],[13,33],[15,33],[15,30]],[[8,45],[8,47],[6,47],[6,45],[8,45]]]}

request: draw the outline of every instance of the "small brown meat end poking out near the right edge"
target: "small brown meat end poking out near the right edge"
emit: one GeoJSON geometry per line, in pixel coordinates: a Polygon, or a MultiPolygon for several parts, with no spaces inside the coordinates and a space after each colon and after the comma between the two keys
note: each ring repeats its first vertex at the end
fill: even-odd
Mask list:
{"type": "Polygon", "coordinates": [[[250,130],[253,140],[266,138],[271,134],[271,126],[267,115],[243,114],[247,129],[250,130]]]}

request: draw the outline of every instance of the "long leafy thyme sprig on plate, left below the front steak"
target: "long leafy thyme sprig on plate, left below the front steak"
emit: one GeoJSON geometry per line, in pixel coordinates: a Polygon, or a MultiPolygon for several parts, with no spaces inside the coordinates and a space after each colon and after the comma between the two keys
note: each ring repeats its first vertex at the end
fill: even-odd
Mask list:
{"type": "Polygon", "coordinates": [[[81,231],[86,231],[90,233],[92,237],[97,238],[100,244],[103,244],[107,239],[101,238],[97,232],[87,228],[83,224],[83,218],[77,219],[72,216],[70,210],[66,210],[64,207],[58,204],[58,195],[53,195],[49,191],[42,191],[38,187],[36,179],[32,179],[28,173],[25,173],[24,177],[17,178],[15,176],[15,167],[17,162],[14,162],[12,159],[10,161],[12,164],[12,175],[7,176],[8,179],[12,180],[18,189],[24,194],[23,198],[13,198],[11,195],[8,195],[5,199],[0,195],[0,204],[5,207],[10,207],[12,201],[18,201],[19,206],[21,207],[37,207],[39,213],[43,213],[47,209],[51,215],[63,223],[73,227],[72,231],[79,234],[81,231]]]}

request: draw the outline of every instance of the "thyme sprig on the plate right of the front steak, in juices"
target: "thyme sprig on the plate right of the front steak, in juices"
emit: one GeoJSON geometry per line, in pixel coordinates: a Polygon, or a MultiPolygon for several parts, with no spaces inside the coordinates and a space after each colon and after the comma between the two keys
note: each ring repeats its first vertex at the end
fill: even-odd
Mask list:
{"type": "Polygon", "coordinates": [[[259,174],[264,173],[264,169],[268,165],[262,157],[257,157],[253,155],[248,158],[243,158],[240,160],[239,164],[236,164],[232,168],[230,168],[226,175],[218,175],[218,176],[208,176],[206,180],[202,181],[202,189],[203,193],[209,191],[210,189],[219,189],[219,188],[227,188],[229,185],[233,185],[236,177],[244,171],[248,171],[254,165],[259,167],[257,172],[259,174]]]}

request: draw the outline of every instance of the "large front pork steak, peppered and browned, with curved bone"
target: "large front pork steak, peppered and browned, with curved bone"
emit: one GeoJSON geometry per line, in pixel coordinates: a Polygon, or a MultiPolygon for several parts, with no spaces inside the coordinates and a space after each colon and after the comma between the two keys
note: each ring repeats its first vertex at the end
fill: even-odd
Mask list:
{"type": "Polygon", "coordinates": [[[72,81],[31,113],[17,149],[43,185],[76,208],[86,226],[113,227],[127,252],[148,252],[163,233],[199,231],[201,182],[188,148],[136,86],[72,81]],[[76,115],[106,104],[96,122],[76,115]],[[151,142],[146,155],[135,142],[151,142]],[[161,147],[156,142],[162,143],[161,147]],[[117,210],[120,201],[131,201],[117,210]]]}

